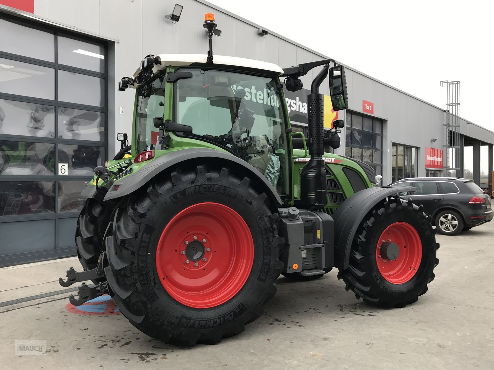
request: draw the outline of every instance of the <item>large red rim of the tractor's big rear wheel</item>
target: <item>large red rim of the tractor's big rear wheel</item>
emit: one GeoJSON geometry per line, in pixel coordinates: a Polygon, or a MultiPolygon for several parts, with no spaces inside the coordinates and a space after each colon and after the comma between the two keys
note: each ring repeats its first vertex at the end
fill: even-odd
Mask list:
{"type": "Polygon", "coordinates": [[[253,259],[254,243],[244,219],[225,205],[198,203],[166,225],[158,242],[156,268],[175,300],[208,308],[225,303],[242,289],[253,259]]]}

